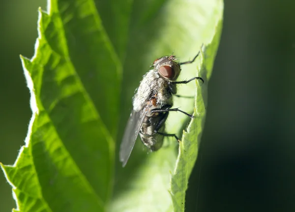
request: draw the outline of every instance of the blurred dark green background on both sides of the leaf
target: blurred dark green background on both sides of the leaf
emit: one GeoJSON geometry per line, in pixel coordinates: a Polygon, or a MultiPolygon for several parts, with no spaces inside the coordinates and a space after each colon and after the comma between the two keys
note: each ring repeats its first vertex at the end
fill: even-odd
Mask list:
{"type": "MultiPolygon", "coordinates": [[[[13,164],[31,111],[19,54],[31,57],[37,8],[0,1],[0,161],[13,164]]],[[[295,210],[295,1],[225,0],[205,132],[188,212],[295,210]]],[[[15,207],[0,174],[0,212],[15,207]]]]}

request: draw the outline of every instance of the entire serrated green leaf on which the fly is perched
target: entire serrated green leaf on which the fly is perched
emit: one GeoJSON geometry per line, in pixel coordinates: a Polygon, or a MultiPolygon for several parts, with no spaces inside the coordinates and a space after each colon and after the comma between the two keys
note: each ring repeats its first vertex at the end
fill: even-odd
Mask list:
{"type": "MultiPolygon", "coordinates": [[[[1,164],[17,211],[184,211],[222,12],[222,0],[51,0],[48,13],[40,10],[35,55],[21,57],[33,111],[26,145],[14,165],[1,164]],[[205,83],[178,89],[186,96],[196,90],[196,118],[178,159],[173,139],[148,155],[137,142],[122,169],[115,147],[142,75],[155,58],[174,52],[188,60],[202,43],[202,55],[179,76],[205,83]]],[[[192,112],[194,102],[176,98],[175,106],[192,112]]],[[[170,115],[167,131],[180,136],[187,121],[170,115]]]]}

